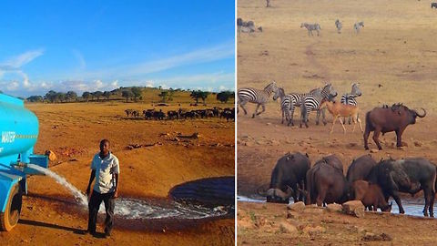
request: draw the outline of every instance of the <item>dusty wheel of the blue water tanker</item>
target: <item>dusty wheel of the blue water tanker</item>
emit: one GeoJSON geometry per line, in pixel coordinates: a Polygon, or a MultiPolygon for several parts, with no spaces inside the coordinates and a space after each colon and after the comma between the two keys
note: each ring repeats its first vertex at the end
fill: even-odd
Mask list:
{"type": "Polygon", "coordinates": [[[21,204],[23,203],[23,193],[20,185],[16,183],[9,197],[7,198],[5,212],[0,212],[0,230],[11,231],[20,219],[21,204]]]}

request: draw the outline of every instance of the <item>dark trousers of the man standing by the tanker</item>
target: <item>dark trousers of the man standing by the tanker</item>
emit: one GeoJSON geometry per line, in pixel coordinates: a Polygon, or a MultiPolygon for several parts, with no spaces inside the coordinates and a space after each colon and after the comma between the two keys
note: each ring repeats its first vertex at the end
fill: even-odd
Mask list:
{"type": "Polygon", "coordinates": [[[105,220],[105,232],[110,233],[112,230],[112,226],[114,225],[114,192],[98,193],[96,190],[93,190],[91,198],[88,202],[88,231],[90,232],[96,232],[97,213],[98,209],[100,208],[100,204],[102,203],[102,200],[105,203],[105,210],[107,211],[107,219],[105,220]]]}

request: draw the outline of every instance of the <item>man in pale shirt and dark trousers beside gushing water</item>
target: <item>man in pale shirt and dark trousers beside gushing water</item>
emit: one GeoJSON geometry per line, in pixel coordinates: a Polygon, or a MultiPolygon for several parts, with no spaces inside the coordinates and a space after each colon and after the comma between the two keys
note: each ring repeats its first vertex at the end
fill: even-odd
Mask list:
{"type": "Polygon", "coordinates": [[[109,151],[109,140],[101,140],[100,152],[94,156],[91,163],[91,177],[89,178],[88,187],[86,188],[86,195],[89,196],[91,183],[94,178],[96,178],[93,193],[88,202],[89,218],[86,232],[91,234],[96,233],[97,213],[103,200],[105,210],[107,211],[105,236],[109,237],[111,235],[111,230],[114,225],[115,199],[118,197],[118,188],[120,187],[118,179],[119,173],[118,159],[109,151]]]}

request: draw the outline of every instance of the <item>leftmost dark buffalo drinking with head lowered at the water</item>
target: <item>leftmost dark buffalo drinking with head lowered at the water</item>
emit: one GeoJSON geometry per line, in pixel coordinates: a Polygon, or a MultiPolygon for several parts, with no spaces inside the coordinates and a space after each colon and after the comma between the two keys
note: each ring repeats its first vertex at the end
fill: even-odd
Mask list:
{"type": "MultiPolygon", "coordinates": [[[[301,190],[304,189],[305,175],[310,165],[307,154],[285,154],[271,172],[269,190],[259,193],[265,195],[268,202],[289,203],[290,197],[293,197],[294,202],[298,201],[298,186],[301,190]]],[[[303,194],[299,194],[299,200],[303,200],[303,194]]]]}

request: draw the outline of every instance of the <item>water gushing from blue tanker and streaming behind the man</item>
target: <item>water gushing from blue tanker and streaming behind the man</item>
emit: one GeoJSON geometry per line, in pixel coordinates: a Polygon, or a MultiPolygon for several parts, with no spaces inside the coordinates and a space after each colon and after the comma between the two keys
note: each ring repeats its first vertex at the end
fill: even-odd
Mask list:
{"type": "MultiPolygon", "coordinates": [[[[66,187],[74,196],[76,201],[83,208],[87,208],[88,200],[86,196],[74,185],[69,183],[64,177],[59,176],[50,169],[45,169],[34,164],[27,164],[27,168],[36,169],[46,176],[53,178],[57,183],[66,187]]],[[[105,212],[102,203],[99,212],[105,212]]],[[[199,205],[180,203],[174,200],[146,201],[136,199],[117,199],[114,214],[125,219],[204,219],[209,217],[219,217],[227,214],[223,208],[206,208],[199,205]]]]}

